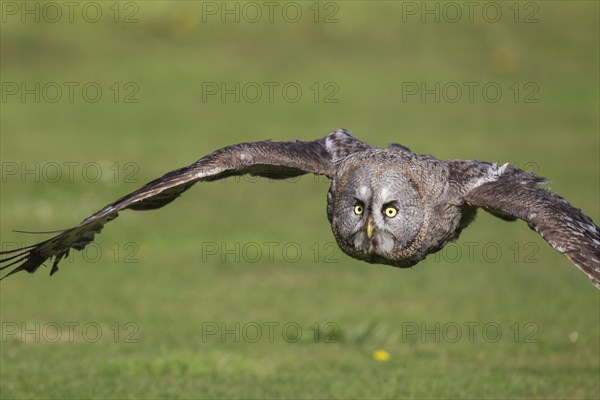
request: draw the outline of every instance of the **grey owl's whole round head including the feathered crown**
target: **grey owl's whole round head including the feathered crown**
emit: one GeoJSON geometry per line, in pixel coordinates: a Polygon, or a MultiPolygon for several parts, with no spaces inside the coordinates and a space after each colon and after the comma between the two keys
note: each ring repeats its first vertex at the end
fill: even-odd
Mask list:
{"type": "Polygon", "coordinates": [[[340,169],[329,196],[339,246],[352,257],[398,267],[414,265],[429,220],[423,182],[411,168],[356,157],[340,169]]]}

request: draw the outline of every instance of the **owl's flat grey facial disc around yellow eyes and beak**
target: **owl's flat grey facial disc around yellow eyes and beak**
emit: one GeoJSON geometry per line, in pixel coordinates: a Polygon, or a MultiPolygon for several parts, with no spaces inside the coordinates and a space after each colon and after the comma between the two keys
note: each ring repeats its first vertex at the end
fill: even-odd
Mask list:
{"type": "Polygon", "coordinates": [[[334,203],[340,247],[372,262],[395,263],[410,256],[424,216],[410,178],[392,166],[357,168],[346,178],[334,203]]]}

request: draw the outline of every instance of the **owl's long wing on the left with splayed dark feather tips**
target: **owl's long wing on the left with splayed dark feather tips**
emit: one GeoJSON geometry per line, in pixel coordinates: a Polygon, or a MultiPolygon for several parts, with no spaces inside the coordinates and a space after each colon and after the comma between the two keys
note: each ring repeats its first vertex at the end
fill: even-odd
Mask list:
{"type": "MultiPolygon", "coordinates": [[[[148,183],[144,187],[107,205],[77,226],[58,231],[59,234],[43,242],[15,250],[0,252],[0,270],[14,267],[1,279],[19,271],[35,272],[46,260],[54,258],[50,274],[58,270],[58,263],[71,249],[82,250],[100,233],[104,224],[115,219],[125,209],[152,210],[179,197],[198,181],[214,181],[233,175],[252,174],[283,179],[306,173],[331,177],[334,165],[327,149],[327,138],[348,137],[343,130],[312,142],[241,143],[217,150],[197,162],[148,183]]],[[[331,141],[331,140],[330,140],[331,141]]],[[[56,232],[53,232],[56,233],[56,232]]]]}

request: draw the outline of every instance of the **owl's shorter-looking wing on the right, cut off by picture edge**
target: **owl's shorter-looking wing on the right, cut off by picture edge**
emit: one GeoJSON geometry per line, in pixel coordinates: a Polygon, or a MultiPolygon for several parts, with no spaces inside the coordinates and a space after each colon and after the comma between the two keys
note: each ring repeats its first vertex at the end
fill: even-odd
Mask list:
{"type": "MultiPolygon", "coordinates": [[[[452,162],[450,163],[452,164],[452,162]]],[[[473,162],[462,171],[478,175],[467,188],[464,200],[500,218],[520,218],[552,247],[563,253],[600,289],[600,229],[594,221],[565,199],[541,185],[546,180],[509,165],[473,162]],[[481,174],[487,169],[487,173],[481,174]]],[[[459,164],[456,163],[455,166],[459,164]]],[[[469,174],[466,172],[467,175],[469,174]]]]}

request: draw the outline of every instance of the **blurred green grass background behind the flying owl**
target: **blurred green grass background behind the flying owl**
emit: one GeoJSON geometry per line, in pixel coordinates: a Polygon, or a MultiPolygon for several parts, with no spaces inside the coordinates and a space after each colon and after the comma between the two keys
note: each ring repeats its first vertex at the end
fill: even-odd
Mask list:
{"type": "MultiPolygon", "coordinates": [[[[465,14],[457,23],[443,14],[440,23],[431,16],[422,22],[405,12],[406,3],[384,1],[320,3],[318,23],[314,2],[294,3],[303,12],[297,23],[277,11],[272,23],[266,14],[257,23],[243,15],[239,23],[232,17],[222,23],[220,15],[206,13],[207,4],[220,2],[119,3],[115,23],[113,3],[96,4],[104,13],[98,23],[77,12],[73,23],[66,16],[58,23],[31,17],[22,23],[20,14],[3,8],[3,95],[7,82],[96,82],[103,89],[96,103],[77,89],[73,102],[66,94],[56,103],[3,98],[4,248],[36,238],[12,229],[72,226],[219,147],[312,140],[340,127],[375,145],[402,143],[441,159],[528,166],[600,220],[597,2],[519,3],[517,23],[512,2],[495,3],[503,11],[497,23],[482,17],[484,3],[473,22],[465,14]],[[531,12],[538,21],[523,23],[531,12]],[[137,22],[123,23],[127,15],[137,22]],[[325,15],[337,22],[323,23],[325,15]],[[114,82],[121,89],[117,102],[109,89],[114,82]],[[122,101],[127,82],[139,89],[137,103],[122,101]],[[276,90],[272,103],[264,94],[256,103],[219,96],[203,101],[205,82],[295,82],[303,96],[291,103],[276,90]],[[338,101],[323,102],[322,92],[315,102],[314,82],[321,89],[333,82],[338,101]],[[456,103],[419,96],[403,101],[406,82],[495,82],[503,95],[496,103],[478,90],[473,102],[466,94],[456,103]],[[508,89],[515,82],[521,89],[534,83],[539,101],[523,102],[525,90],[515,102],[508,89]],[[79,163],[73,180],[66,179],[66,167],[57,182],[44,179],[51,172],[44,175],[45,166],[70,162],[79,163]],[[104,179],[83,179],[81,166],[90,162],[101,166],[104,179]],[[35,174],[21,175],[36,165],[39,182],[35,174]],[[116,182],[112,165],[120,172],[116,182]],[[18,172],[9,173],[14,166],[18,172]]],[[[125,212],[108,224],[96,240],[97,262],[78,253],[52,279],[42,269],[3,281],[1,397],[599,397],[599,293],[524,223],[481,213],[453,248],[465,252],[464,243],[476,243],[473,259],[442,253],[411,270],[340,252],[326,260],[334,242],[325,216],[327,187],[312,177],[201,184],[164,209],[125,212]],[[267,242],[278,249],[291,243],[303,256],[289,262],[276,250],[272,260],[263,254],[251,262],[242,254],[236,262],[222,252],[205,253],[207,243],[258,244],[266,251],[267,242]],[[128,244],[137,262],[125,262],[128,244]],[[486,244],[503,252],[497,262],[485,260],[486,244]],[[531,249],[535,262],[527,263],[531,249]],[[90,343],[77,329],[74,343],[65,332],[57,343],[35,328],[8,334],[15,324],[31,329],[68,322],[99,324],[102,340],[90,343]],[[127,322],[138,329],[137,343],[124,340],[127,322]],[[243,335],[203,337],[206,323],[268,322],[297,323],[301,340],[283,340],[280,329],[272,343],[264,335],[256,343],[243,335]],[[315,322],[335,324],[335,343],[313,342],[315,322]],[[498,324],[500,339],[484,340],[476,329],[470,341],[465,329],[452,343],[405,330],[469,322],[498,324]],[[524,339],[528,322],[537,329],[535,343],[524,339]],[[374,360],[376,349],[389,352],[390,360],[374,360]]]]}

